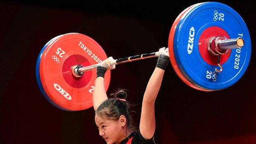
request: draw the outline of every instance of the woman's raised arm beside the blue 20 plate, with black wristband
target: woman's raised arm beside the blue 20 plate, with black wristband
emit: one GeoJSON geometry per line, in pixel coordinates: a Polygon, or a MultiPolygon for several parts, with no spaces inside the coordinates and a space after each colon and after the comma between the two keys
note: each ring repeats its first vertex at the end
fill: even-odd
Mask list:
{"type": "Polygon", "coordinates": [[[156,122],[154,103],[161,87],[164,70],[170,61],[168,48],[166,50],[164,50],[164,48],[159,49],[159,53],[161,55],[159,56],[156,68],[149,79],[142,101],[140,133],[145,139],[151,139],[155,132],[156,122]]]}

